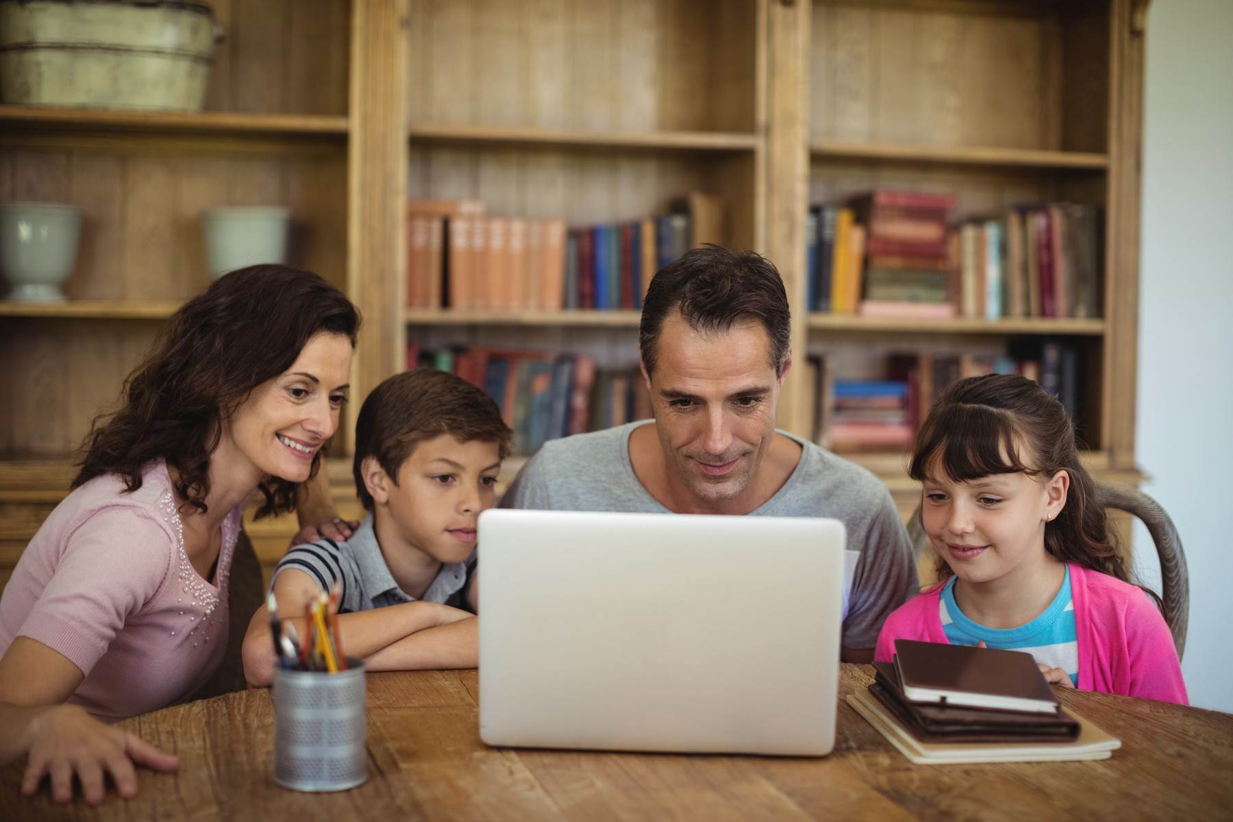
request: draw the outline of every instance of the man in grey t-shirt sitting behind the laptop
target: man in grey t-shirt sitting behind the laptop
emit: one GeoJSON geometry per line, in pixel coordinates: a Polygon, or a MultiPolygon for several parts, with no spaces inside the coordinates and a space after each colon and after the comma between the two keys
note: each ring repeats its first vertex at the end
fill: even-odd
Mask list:
{"type": "Polygon", "coordinates": [[[665,266],[639,332],[655,419],[547,442],[502,505],[842,520],[841,656],[870,662],[882,624],[916,593],[911,546],[877,477],[776,430],[789,327],[779,272],[757,254],[708,245],[665,266]]]}

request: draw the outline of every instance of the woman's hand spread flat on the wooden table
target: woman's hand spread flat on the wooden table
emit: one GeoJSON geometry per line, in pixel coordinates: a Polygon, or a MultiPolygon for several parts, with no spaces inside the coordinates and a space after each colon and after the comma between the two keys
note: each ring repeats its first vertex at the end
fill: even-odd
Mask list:
{"type": "Polygon", "coordinates": [[[30,763],[21,779],[21,792],[33,796],[43,775],[52,778],[52,799],[73,799],[74,774],[81,781],[81,794],[90,805],[105,795],[104,771],[111,774],[116,792],[125,799],[137,795],[133,763],[154,770],[173,771],[179,758],[163,753],[137,736],[92,718],[76,705],[55,705],[31,718],[26,731],[30,763]]]}

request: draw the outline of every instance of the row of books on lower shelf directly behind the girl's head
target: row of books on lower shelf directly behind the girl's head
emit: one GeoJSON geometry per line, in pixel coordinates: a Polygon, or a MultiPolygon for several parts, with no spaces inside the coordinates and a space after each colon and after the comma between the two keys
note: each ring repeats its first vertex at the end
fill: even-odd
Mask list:
{"type": "Polygon", "coordinates": [[[912,352],[887,357],[884,377],[847,380],[825,356],[806,361],[813,439],[835,451],[906,451],[928,410],[952,383],[1020,373],[1058,397],[1083,433],[1078,350],[1067,343],[1012,345],[1002,356],[912,352]]]}

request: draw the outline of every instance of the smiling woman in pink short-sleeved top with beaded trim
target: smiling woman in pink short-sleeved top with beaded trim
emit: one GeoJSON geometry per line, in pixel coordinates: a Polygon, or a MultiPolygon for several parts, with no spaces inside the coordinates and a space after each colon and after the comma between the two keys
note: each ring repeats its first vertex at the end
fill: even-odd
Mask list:
{"type": "Polygon", "coordinates": [[[90,804],[104,771],[170,757],[115,721],[185,700],[227,645],[227,579],[247,500],[292,509],[338,428],[359,314],[316,274],[228,274],[171,317],[95,420],[74,490],[22,553],[0,598],[0,762],[28,753],[90,804]],[[104,721],[100,721],[104,720],[104,721]]]}

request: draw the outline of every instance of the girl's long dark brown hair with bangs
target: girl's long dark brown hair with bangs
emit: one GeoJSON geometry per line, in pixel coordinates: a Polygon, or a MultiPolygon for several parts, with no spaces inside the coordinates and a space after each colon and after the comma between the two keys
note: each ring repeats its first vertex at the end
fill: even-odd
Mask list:
{"type": "MultiPolygon", "coordinates": [[[[1070,489],[1065,505],[1044,524],[1044,550],[1131,582],[1091,474],[1079,462],[1074,425],[1062,403],[1031,380],[990,375],[951,386],[916,435],[907,473],[917,482],[941,476],[970,482],[1018,472],[1048,478],[1058,471],[1070,474],[1070,489]]],[[[941,578],[951,574],[941,557],[937,571],[941,578]]]]}

